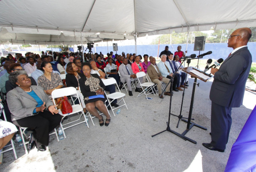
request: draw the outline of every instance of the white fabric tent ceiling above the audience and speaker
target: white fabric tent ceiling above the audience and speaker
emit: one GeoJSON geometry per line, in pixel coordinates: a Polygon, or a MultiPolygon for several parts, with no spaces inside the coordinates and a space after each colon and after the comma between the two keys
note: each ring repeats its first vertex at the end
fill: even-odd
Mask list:
{"type": "Polygon", "coordinates": [[[85,43],[187,32],[187,26],[254,27],[254,6],[254,0],[0,0],[0,41],[79,44],[81,34],[85,43]]]}

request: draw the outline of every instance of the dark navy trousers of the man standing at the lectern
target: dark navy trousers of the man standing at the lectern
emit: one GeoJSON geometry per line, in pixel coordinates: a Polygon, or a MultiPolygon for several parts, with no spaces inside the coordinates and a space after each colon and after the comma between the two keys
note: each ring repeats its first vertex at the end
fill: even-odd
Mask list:
{"type": "Polygon", "coordinates": [[[230,107],[220,106],[212,102],[211,144],[217,149],[226,149],[232,124],[231,109],[230,107]]]}

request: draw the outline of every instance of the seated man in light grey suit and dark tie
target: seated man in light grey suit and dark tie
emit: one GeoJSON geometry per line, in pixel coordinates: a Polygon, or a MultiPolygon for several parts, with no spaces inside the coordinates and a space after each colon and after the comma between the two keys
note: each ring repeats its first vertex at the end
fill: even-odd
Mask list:
{"type": "MultiPolygon", "coordinates": [[[[119,73],[120,73],[120,80],[121,82],[126,82],[128,90],[129,90],[129,96],[133,96],[132,94],[132,87],[131,87],[131,82],[132,80],[138,80],[136,74],[133,73],[132,67],[130,64],[128,64],[127,58],[123,59],[123,63],[119,66],[118,68],[119,73]]],[[[141,77],[140,82],[143,82],[143,77],[141,77]]],[[[135,92],[142,92],[141,86],[137,86],[135,89],[135,92]]]]}

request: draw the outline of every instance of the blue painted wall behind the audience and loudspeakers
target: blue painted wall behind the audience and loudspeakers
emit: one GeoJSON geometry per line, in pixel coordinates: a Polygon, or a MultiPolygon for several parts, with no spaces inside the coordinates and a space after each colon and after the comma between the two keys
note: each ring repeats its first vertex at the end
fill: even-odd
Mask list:
{"type": "MultiPolygon", "coordinates": [[[[172,44],[172,47],[174,49],[174,52],[172,51],[172,47],[170,44],[161,44],[159,46],[159,54],[161,51],[164,50],[165,46],[168,45],[169,46],[169,50],[174,53],[175,51],[177,51],[177,47],[178,45],[182,46],[183,51],[185,51],[186,49],[186,44],[172,44]]],[[[248,49],[250,50],[251,54],[252,54],[252,61],[256,62],[256,42],[249,42],[247,44],[248,49]]],[[[92,52],[95,53],[95,49],[97,53],[102,52],[102,54],[107,54],[111,51],[113,51],[113,47],[108,47],[108,51],[107,52],[107,47],[95,47],[92,48],[92,52]]],[[[227,43],[206,43],[205,47],[204,47],[204,51],[200,52],[200,54],[206,53],[208,51],[212,51],[213,53],[210,55],[206,55],[203,57],[203,59],[219,59],[219,58],[223,58],[224,60],[228,57],[229,53],[232,52],[232,48],[228,47],[227,43]]],[[[114,52],[114,51],[113,51],[114,52]]],[[[135,53],[135,46],[134,45],[126,45],[126,46],[118,46],[118,51],[117,54],[121,54],[122,52],[124,53],[135,53]]],[[[187,55],[191,55],[191,54],[199,54],[199,51],[194,51],[194,44],[188,44],[188,48],[187,48],[187,55]]],[[[114,52],[114,54],[116,54],[116,52],[114,52]]],[[[149,56],[153,56],[153,57],[157,57],[158,54],[158,45],[137,45],[137,54],[140,55],[144,55],[144,54],[148,54],[149,56]]]]}

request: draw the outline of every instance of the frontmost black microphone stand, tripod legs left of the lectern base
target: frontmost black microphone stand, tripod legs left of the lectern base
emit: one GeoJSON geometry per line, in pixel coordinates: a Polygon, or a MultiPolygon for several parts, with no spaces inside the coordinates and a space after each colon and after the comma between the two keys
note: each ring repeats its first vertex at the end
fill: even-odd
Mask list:
{"type": "MultiPolygon", "coordinates": [[[[186,59],[184,59],[183,62],[184,62],[185,60],[186,60],[186,59]]],[[[183,63],[183,62],[182,62],[182,63],[183,63]]],[[[181,65],[182,65],[182,63],[181,63],[181,65]]],[[[181,65],[179,66],[179,68],[181,67],[181,65]]],[[[154,137],[154,136],[156,136],[156,135],[158,135],[158,134],[164,133],[165,131],[169,131],[169,132],[171,132],[171,133],[173,133],[173,134],[179,136],[180,138],[182,138],[182,139],[184,139],[184,140],[188,140],[188,141],[191,141],[192,143],[194,143],[194,140],[192,140],[192,139],[186,137],[185,135],[182,135],[182,134],[180,134],[180,133],[177,133],[176,131],[171,130],[171,128],[170,128],[171,102],[172,102],[172,86],[173,86],[174,76],[175,76],[175,74],[177,73],[177,71],[178,71],[178,70],[176,70],[175,73],[172,75],[170,81],[168,82],[168,84],[166,85],[165,89],[163,90],[163,92],[162,92],[161,95],[159,96],[159,97],[162,96],[162,94],[165,92],[167,86],[171,83],[171,86],[170,86],[171,96],[170,96],[170,106],[169,106],[169,117],[168,117],[168,122],[166,122],[167,128],[166,128],[166,130],[161,131],[160,133],[157,133],[157,134],[155,134],[155,135],[152,135],[152,137],[154,137]]]]}

